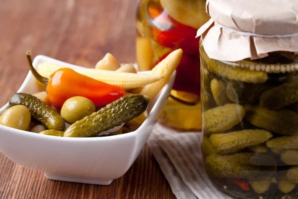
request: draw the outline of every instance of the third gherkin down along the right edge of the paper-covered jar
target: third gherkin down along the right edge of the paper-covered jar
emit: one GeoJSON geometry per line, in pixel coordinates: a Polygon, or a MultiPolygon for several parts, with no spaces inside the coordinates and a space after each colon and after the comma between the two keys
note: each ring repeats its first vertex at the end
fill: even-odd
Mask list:
{"type": "Polygon", "coordinates": [[[298,149],[298,136],[292,135],[274,138],[267,141],[266,146],[270,149],[298,149]]]}

